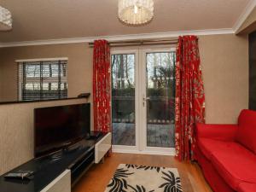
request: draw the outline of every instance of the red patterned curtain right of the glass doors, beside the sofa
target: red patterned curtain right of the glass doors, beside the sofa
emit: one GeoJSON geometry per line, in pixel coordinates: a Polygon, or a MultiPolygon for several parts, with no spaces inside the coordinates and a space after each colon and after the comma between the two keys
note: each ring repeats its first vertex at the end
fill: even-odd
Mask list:
{"type": "Polygon", "coordinates": [[[175,148],[178,160],[195,159],[195,123],[204,123],[205,94],[198,38],[179,37],[176,62],[175,148]]]}

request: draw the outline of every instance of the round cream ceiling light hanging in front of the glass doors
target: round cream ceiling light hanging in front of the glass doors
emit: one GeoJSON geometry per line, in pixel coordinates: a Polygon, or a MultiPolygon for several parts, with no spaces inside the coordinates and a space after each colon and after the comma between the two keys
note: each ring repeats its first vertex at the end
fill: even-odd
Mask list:
{"type": "Polygon", "coordinates": [[[154,16],[153,0],[119,0],[119,19],[129,25],[142,25],[154,16]]]}

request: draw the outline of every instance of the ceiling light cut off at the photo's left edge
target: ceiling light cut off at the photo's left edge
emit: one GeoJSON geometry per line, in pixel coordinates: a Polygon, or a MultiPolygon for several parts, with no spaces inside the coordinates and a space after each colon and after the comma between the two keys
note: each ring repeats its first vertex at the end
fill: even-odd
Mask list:
{"type": "Polygon", "coordinates": [[[0,6],[0,31],[12,29],[12,15],[8,9],[0,6]]]}

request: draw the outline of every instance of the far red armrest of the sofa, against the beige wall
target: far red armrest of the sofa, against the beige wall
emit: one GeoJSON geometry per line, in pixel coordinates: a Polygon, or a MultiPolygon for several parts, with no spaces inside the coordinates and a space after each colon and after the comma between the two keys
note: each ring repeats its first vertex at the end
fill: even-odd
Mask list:
{"type": "Polygon", "coordinates": [[[237,125],[197,124],[195,127],[196,137],[220,141],[234,141],[238,129],[237,125]]]}

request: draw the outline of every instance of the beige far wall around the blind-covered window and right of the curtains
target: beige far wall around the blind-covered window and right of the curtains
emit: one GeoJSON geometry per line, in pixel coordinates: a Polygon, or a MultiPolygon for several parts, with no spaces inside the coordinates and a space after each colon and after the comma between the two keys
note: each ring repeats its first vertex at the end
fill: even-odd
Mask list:
{"type": "MultiPolygon", "coordinates": [[[[240,110],[248,108],[247,37],[201,36],[199,46],[207,123],[234,123],[240,110]]],[[[0,95],[16,96],[16,59],[47,57],[68,57],[68,96],[91,92],[92,49],[88,44],[57,44],[0,49],[0,95]]]]}

